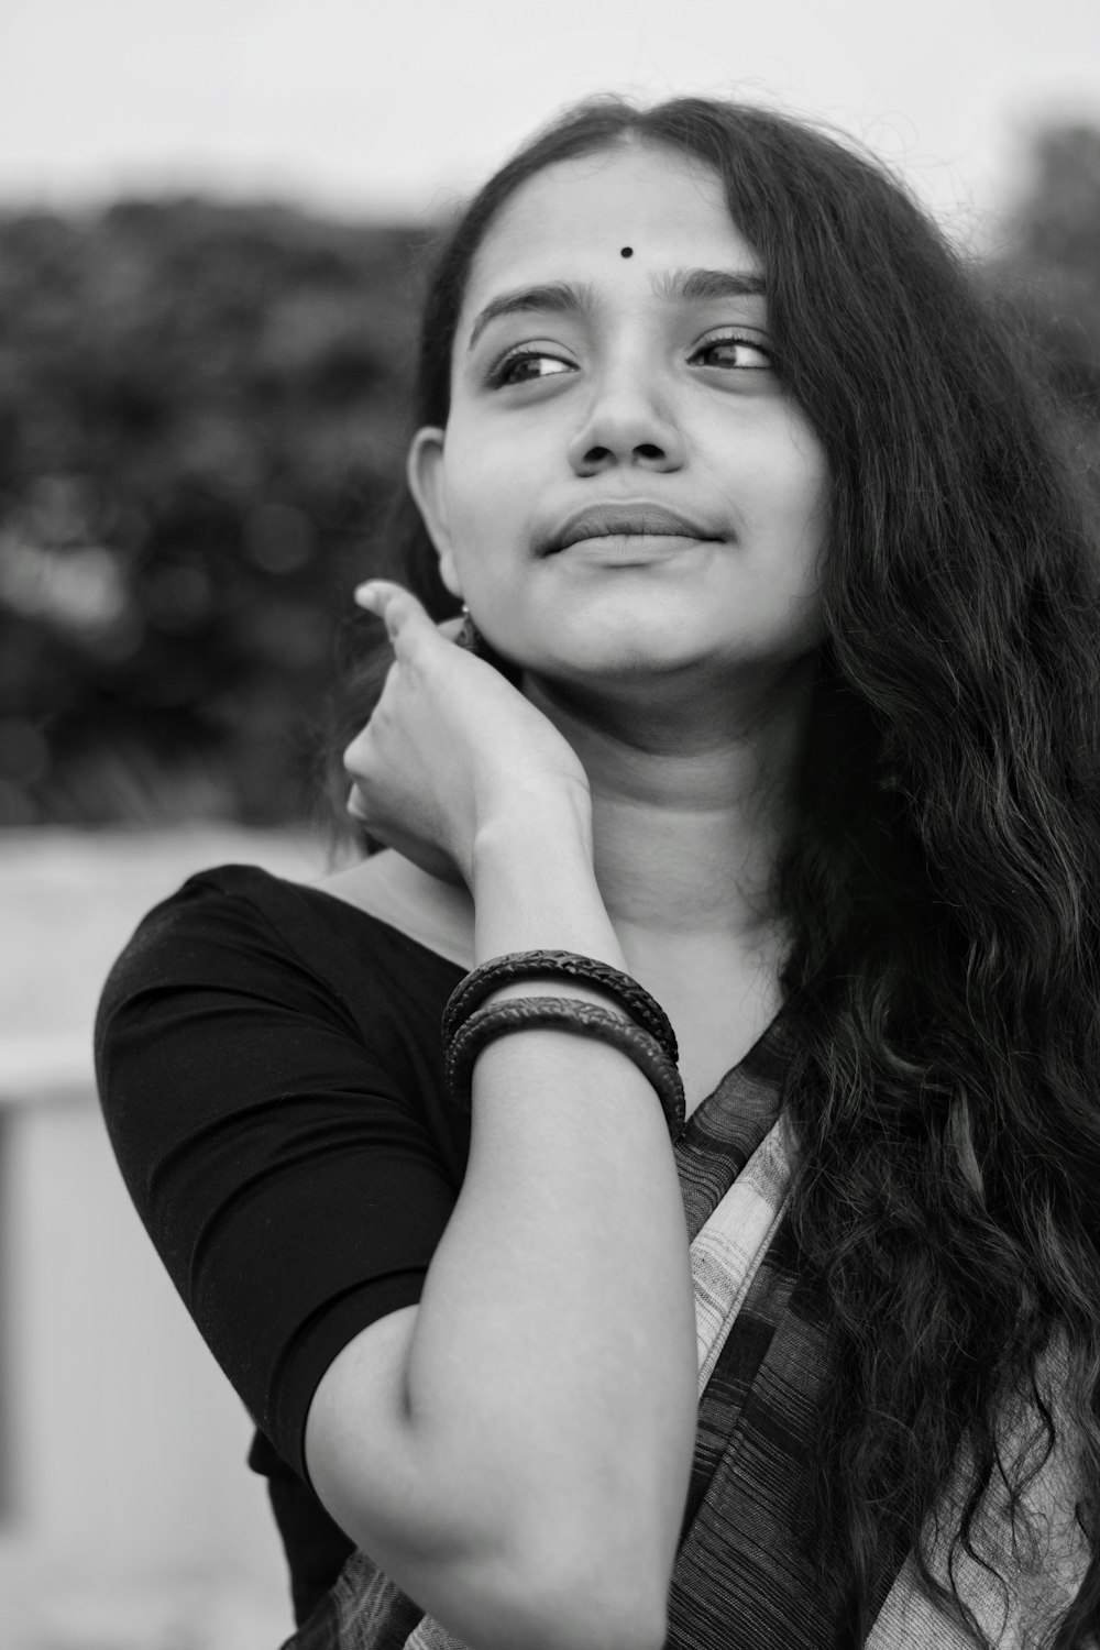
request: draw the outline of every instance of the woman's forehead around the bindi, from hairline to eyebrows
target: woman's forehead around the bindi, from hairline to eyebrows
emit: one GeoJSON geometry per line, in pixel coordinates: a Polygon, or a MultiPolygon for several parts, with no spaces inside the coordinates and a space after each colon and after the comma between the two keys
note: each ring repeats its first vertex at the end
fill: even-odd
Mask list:
{"type": "Polygon", "coordinates": [[[686,264],[764,272],[729,216],[717,172],[650,144],[602,150],[546,167],[510,196],[477,251],[462,309],[475,314],[526,282],[686,264]]]}

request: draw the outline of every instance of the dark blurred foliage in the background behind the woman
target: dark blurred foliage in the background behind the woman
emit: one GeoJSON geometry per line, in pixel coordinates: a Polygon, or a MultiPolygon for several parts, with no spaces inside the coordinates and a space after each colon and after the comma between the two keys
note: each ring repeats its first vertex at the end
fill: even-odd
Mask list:
{"type": "MultiPolygon", "coordinates": [[[[980,279],[1095,488],[1100,130],[1041,134],[1004,224],[980,279]]],[[[0,216],[0,825],[313,815],[429,239],[201,198],[0,216]]]]}

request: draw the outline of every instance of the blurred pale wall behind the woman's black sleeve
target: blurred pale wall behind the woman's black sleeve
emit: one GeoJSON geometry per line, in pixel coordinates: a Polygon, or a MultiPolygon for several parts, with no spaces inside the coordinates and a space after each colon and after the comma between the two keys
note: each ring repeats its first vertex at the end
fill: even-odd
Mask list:
{"type": "Polygon", "coordinates": [[[0,1645],[275,1650],[292,1632],[251,1421],[129,1201],[92,1089],[102,980],[186,874],[312,879],[234,828],[0,837],[0,1645]]]}

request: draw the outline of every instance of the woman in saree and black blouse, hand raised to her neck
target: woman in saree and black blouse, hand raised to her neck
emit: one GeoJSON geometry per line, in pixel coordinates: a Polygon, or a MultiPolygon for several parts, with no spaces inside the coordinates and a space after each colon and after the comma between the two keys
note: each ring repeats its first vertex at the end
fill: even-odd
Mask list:
{"type": "Polygon", "coordinates": [[[1100,591],[1018,342],[704,99],[529,144],[422,340],[381,851],[193,878],[97,1030],[295,1645],[1093,1642],[1100,591]]]}

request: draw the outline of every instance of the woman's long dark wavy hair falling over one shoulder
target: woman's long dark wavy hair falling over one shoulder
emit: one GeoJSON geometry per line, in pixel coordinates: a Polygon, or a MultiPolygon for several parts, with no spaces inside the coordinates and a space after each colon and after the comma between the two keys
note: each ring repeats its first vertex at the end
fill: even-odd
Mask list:
{"type": "MultiPolygon", "coordinates": [[[[1011,1394],[1080,1449],[1092,1564],[1051,1643],[1100,1622],[1100,556],[1018,328],[904,185],[848,140],[698,97],[567,111],[473,198],[439,257],[412,427],[445,426],[472,259],[501,203],[559,160],[623,142],[709,163],[767,269],[778,370],[825,446],[826,640],[775,873],[793,936],[793,1229],[836,1363],[806,1528],[853,1642],[876,1558],[986,1645],[922,1530],[960,1457],[971,1551],[983,1493],[1014,1515],[1011,1394]],[[1042,1370],[1064,1370],[1057,1416],[1042,1370]]],[[[458,610],[404,488],[373,571],[458,610]]],[[[389,665],[350,685],[346,738],[389,665]]],[[[519,680],[508,660],[500,660],[519,680]]],[[[338,785],[343,800],[343,784],[338,785]]],[[[369,846],[369,845],[368,845],[369,846]]],[[[376,846],[376,845],[374,845],[376,846]]]]}

